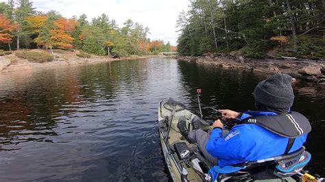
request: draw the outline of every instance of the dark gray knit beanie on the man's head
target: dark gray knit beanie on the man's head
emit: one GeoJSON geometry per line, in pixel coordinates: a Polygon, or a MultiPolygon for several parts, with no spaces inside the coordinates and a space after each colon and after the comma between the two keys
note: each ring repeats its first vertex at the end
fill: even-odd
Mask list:
{"type": "Polygon", "coordinates": [[[276,73],[257,84],[254,98],[258,103],[274,108],[290,108],[293,105],[291,77],[276,73]]]}

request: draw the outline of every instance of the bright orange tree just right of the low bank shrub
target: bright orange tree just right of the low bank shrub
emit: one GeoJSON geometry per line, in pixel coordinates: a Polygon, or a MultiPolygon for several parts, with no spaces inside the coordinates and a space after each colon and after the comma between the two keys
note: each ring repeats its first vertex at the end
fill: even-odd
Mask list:
{"type": "Polygon", "coordinates": [[[51,45],[59,49],[70,49],[73,47],[72,38],[69,34],[65,33],[63,29],[51,30],[51,45]]]}

